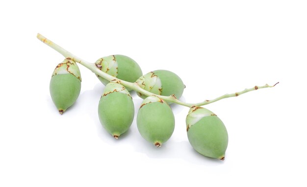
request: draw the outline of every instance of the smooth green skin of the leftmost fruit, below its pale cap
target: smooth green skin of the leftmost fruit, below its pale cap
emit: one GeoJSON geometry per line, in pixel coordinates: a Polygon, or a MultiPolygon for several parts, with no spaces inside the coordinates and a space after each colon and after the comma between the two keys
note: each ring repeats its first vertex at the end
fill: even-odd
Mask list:
{"type": "Polygon", "coordinates": [[[56,108],[66,111],[77,100],[81,90],[81,81],[74,75],[56,74],[50,80],[50,95],[56,108]]]}

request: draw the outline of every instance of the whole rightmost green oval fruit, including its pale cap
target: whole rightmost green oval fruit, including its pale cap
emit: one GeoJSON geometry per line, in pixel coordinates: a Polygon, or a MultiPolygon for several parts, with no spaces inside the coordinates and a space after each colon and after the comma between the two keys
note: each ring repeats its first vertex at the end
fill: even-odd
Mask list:
{"type": "Polygon", "coordinates": [[[225,159],[228,134],[224,123],[214,113],[193,106],[186,117],[186,131],[197,152],[206,157],[225,159]]]}

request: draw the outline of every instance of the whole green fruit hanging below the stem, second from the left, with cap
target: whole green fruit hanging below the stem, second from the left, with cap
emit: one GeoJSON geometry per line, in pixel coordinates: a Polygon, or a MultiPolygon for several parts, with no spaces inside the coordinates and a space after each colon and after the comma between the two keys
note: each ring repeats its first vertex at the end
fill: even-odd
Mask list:
{"type": "Polygon", "coordinates": [[[108,83],[98,105],[102,126],[115,139],[128,131],[134,117],[132,97],[127,89],[116,81],[108,83]]]}

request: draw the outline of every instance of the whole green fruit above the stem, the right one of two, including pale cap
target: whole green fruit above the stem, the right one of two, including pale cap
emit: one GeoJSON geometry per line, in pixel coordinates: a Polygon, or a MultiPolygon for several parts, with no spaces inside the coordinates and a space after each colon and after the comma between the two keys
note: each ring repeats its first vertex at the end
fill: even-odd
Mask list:
{"type": "MultiPolygon", "coordinates": [[[[158,95],[174,95],[180,98],[185,88],[180,77],[169,70],[154,70],[139,79],[136,83],[144,90],[158,95]]],[[[137,93],[141,98],[145,99],[147,96],[137,93]]]]}

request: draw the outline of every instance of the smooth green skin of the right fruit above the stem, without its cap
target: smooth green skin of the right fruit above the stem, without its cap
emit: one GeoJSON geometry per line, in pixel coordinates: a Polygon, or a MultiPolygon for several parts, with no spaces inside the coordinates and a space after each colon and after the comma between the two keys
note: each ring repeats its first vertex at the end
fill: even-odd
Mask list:
{"type": "MultiPolygon", "coordinates": [[[[175,94],[175,96],[178,99],[181,97],[185,86],[181,78],[177,74],[169,70],[154,70],[153,72],[161,80],[161,83],[162,83],[161,95],[169,96],[169,95],[175,94]]],[[[154,93],[154,94],[158,94],[158,93],[154,93]]],[[[142,95],[140,97],[145,99],[147,96],[142,95]]]]}

